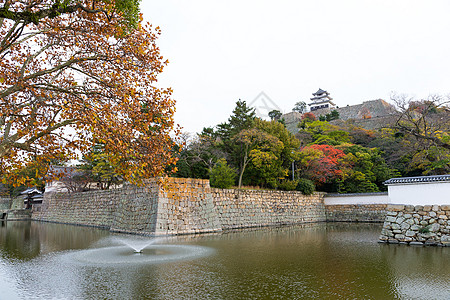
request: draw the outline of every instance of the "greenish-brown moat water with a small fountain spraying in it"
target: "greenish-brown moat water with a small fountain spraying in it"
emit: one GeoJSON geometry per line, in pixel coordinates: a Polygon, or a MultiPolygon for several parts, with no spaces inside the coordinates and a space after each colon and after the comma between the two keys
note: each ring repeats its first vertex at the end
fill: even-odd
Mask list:
{"type": "Polygon", "coordinates": [[[318,223],[151,238],[3,222],[0,298],[448,299],[450,248],[379,244],[381,227],[318,223]]]}

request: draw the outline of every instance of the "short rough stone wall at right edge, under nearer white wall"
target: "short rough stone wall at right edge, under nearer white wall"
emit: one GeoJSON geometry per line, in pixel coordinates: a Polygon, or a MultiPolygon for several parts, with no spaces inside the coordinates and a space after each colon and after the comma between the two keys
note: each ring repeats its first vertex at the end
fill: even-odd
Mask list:
{"type": "Polygon", "coordinates": [[[450,246],[450,205],[388,205],[380,242],[450,246]]]}

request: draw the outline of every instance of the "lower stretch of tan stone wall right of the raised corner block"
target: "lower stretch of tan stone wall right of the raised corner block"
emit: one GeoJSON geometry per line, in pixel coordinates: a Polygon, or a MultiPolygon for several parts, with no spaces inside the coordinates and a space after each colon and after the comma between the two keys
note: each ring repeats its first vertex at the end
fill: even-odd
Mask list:
{"type": "Polygon", "coordinates": [[[323,193],[211,189],[223,229],[323,222],[323,193]]]}

